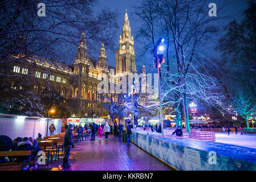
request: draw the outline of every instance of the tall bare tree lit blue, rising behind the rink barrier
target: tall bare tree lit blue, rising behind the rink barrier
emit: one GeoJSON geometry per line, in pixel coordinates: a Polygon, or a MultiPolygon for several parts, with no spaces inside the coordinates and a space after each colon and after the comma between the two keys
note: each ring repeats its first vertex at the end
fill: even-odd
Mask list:
{"type": "MultiPolygon", "coordinates": [[[[173,56],[176,61],[172,64],[174,67],[170,69],[168,75],[174,74],[174,77],[176,77],[173,86],[177,89],[173,90],[173,94],[176,95],[176,101],[182,101],[186,131],[189,132],[187,100],[190,97],[189,94],[192,93],[190,89],[198,89],[190,84],[192,82],[188,82],[191,79],[193,80],[191,77],[193,75],[190,75],[190,73],[193,73],[198,67],[202,66],[198,59],[200,55],[199,50],[202,44],[209,41],[210,35],[213,32],[217,32],[218,28],[214,22],[221,17],[212,18],[208,15],[208,1],[146,0],[145,2],[151,2],[151,6],[154,7],[153,12],[158,17],[158,22],[152,25],[164,25],[161,28],[167,29],[169,32],[169,34],[166,34],[170,36],[170,38],[168,37],[169,43],[171,43],[169,51],[174,52],[173,56]]],[[[221,3],[218,4],[221,5],[221,3]]],[[[147,9],[147,7],[144,9],[147,9]]],[[[222,10],[219,6],[218,12],[222,10]]],[[[198,78],[204,77],[198,75],[198,73],[196,74],[199,76],[198,78]]],[[[172,76],[172,78],[174,77],[172,76]]]]}

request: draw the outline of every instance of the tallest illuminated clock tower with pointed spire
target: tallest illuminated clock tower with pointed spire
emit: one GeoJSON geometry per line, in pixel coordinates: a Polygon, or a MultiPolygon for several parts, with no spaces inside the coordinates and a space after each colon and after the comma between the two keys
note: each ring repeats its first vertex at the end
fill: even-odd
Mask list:
{"type": "Polygon", "coordinates": [[[116,74],[126,75],[136,72],[133,36],[126,10],[122,34],[119,37],[119,48],[116,48],[116,74]]]}

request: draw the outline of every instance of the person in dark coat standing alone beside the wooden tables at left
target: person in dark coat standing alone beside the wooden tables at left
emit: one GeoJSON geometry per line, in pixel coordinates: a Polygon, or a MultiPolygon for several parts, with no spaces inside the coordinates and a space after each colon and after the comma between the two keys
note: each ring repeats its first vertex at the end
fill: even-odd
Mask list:
{"type": "Polygon", "coordinates": [[[63,159],[62,167],[63,168],[69,168],[71,167],[70,163],[68,163],[68,159],[70,158],[70,151],[71,147],[74,148],[73,143],[73,133],[72,130],[74,129],[74,125],[70,124],[68,125],[68,130],[65,133],[64,136],[64,148],[65,148],[65,156],[63,159]]]}

